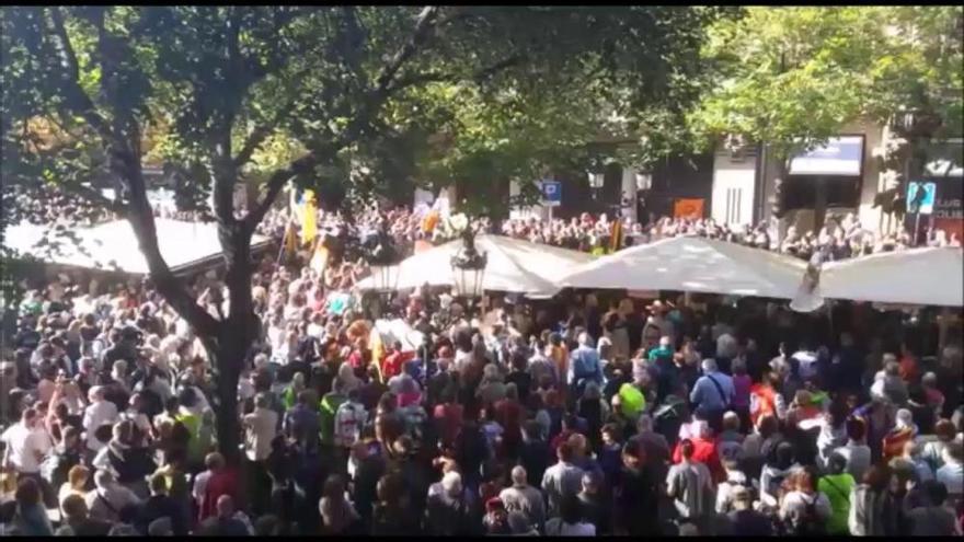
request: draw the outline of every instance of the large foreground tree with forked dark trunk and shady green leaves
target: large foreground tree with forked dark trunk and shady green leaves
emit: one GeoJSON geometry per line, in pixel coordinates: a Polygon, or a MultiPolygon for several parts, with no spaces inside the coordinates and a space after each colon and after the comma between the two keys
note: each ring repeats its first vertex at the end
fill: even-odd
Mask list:
{"type": "MultiPolygon", "coordinates": [[[[55,183],[127,218],[158,291],[208,350],[219,447],[237,459],[237,384],[256,325],[250,241],[289,182],[318,188],[323,203],[336,199],[325,187],[364,196],[383,171],[404,174],[405,164],[390,157],[420,157],[418,139],[445,135],[437,128],[452,118],[477,115],[482,127],[507,115],[493,129],[512,131],[513,101],[555,115],[564,108],[552,96],[566,89],[592,89],[617,112],[682,111],[695,95],[689,81],[699,73],[703,31],[726,11],[4,8],[3,180],[55,183]],[[437,107],[423,114],[431,104],[437,107]],[[35,129],[41,120],[66,135],[60,145],[47,145],[35,129]],[[158,249],[141,165],[157,155],[175,159],[211,195],[230,292],[222,320],[198,304],[158,249]],[[91,184],[103,169],[116,180],[113,199],[91,184]],[[233,188],[245,175],[262,181],[261,194],[237,209],[233,188]]],[[[443,166],[512,152],[485,148],[481,141],[492,138],[454,137],[481,150],[440,157],[443,166]]]]}

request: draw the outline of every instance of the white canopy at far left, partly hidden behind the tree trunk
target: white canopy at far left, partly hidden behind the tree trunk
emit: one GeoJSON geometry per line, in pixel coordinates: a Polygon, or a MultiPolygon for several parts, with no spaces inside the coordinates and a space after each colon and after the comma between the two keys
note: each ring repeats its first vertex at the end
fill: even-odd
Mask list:
{"type": "MultiPolygon", "coordinates": [[[[158,218],[154,223],[161,254],[175,274],[221,255],[215,222],[158,218]]],[[[137,237],[126,220],[69,231],[76,233],[76,242],[46,226],[22,223],[7,228],[4,243],[21,254],[32,254],[50,264],[130,275],[149,274],[137,237]],[[38,245],[45,239],[49,244],[38,245]]],[[[263,249],[267,244],[267,238],[252,237],[252,250],[263,249]]]]}

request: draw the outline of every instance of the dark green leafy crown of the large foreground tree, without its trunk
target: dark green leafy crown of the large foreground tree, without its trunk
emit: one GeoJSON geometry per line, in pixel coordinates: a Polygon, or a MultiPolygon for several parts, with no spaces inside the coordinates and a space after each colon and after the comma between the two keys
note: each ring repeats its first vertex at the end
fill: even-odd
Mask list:
{"type": "Polygon", "coordinates": [[[10,8],[4,175],[30,180],[51,169],[57,182],[65,171],[73,182],[116,169],[103,131],[91,126],[95,113],[147,161],[215,170],[227,148],[237,171],[206,185],[217,176],[268,178],[309,153],[318,170],[298,175],[299,184],[363,193],[532,176],[605,132],[611,114],[630,119],[616,129],[632,139],[654,118],[678,117],[698,94],[704,28],[732,11],[10,8]],[[638,112],[645,115],[633,118],[638,112]],[[65,161],[23,149],[34,117],[62,125],[74,155],[101,158],[42,165],[65,161]],[[24,164],[32,168],[15,169],[24,164]]]}

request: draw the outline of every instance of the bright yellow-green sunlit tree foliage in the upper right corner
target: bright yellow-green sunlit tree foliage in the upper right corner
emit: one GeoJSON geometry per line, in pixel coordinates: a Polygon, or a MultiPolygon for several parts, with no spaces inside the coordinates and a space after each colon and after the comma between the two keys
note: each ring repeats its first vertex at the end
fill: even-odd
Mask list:
{"type": "Polygon", "coordinates": [[[914,111],[940,127],[928,136],[960,132],[961,21],[960,7],[749,8],[710,32],[715,83],[690,127],[704,145],[765,143],[781,180],[858,119],[914,111]]]}

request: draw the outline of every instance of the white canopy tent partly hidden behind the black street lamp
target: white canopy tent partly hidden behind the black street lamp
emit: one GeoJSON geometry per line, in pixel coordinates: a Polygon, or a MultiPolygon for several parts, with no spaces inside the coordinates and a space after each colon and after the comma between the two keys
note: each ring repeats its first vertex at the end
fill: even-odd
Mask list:
{"type": "MultiPolygon", "coordinates": [[[[401,263],[398,289],[454,284],[451,257],[462,247],[461,240],[450,241],[415,254],[401,263]]],[[[556,249],[503,235],[479,235],[475,249],[489,254],[482,284],[485,290],[523,293],[527,297],[551,297],[562,287],[560,279],[593,256],[583,252],[556,249]]],[[[369,277],[358,282],[360,290],[375,288],[369,277]]]]}

